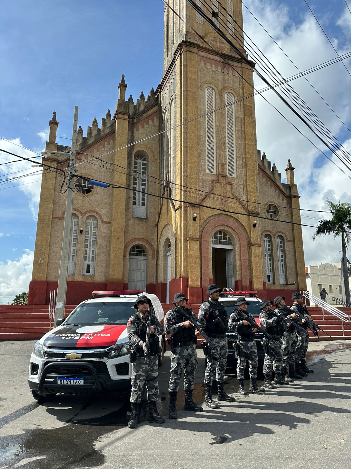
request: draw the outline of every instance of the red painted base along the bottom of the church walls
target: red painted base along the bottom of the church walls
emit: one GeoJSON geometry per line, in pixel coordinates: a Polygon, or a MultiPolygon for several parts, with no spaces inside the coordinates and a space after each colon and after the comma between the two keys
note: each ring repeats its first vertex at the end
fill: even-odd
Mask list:
{"type": "MultiPolygon", "coordinates": [[[[212,279],[210,279],[212,280],[212,279]]],[[[261,299],[273,300],[276,296],[285,296],[286,303],[290,304],[292,293],[296,289],[279,288],[267,289],[263,283],[263,290],[257,291],[257,296],[261,299]]],[[[251,290],[243,288],[241,280],[235,281],[236,291],[251,290]]],[[[57,291],[57,282],[31,281],[29,284],[28,304],[49,304],[50,290],[57,291]]],[[[76,305],[91,297],[93,290],[128,290],[128,284],[122,282],[95,283],[95,282],[67,282],[66,304],[76,305]]],[[[166,303],[167,285],[166,283],[156,283],[146,285],[146,291],[157,295],[161,303],[166,303]]],[[[169,282],[169,302],[172,303],[174,295],[182,292],[189,298],[189,303],[200,304],[208,295],[205,287],[188,287],[188,279],[175,279],[169,282]]]]}

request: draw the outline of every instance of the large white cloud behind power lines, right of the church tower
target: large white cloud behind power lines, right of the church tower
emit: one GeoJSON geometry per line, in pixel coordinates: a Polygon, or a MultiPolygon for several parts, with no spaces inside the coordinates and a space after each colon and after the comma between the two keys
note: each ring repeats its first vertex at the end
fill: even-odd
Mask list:
{"type": "MultiPolygon", "coordinates": [[[[293,16],[296,14],[293,8],[289,9],[282,6],[281,2],[272,0],[266,0],[265,2],[262,0],[249,0],[245,3],[300,70],[305,70],[335,58],[336,53],[312,15],[306,13],[305,16],[297,19],[296,16],[293,16]]],[[[245,8],[243,8],[243,13],[245,31],[259,45],[279,72],[285,77],[298,73],[296,68],[293,67],[278,46],[273,43],[245,8]]],[[[348,22],[349,18],[346,18],[344,12],[338,22],[340,23],[339,27],[344,29],[349,27],[348,22]]],[[[342,30],[335,30],[335,32],[338,32],[340,37],[343,36],[342,30]]],[[[336,38],[332,38],[330,35],[329,38],[334,44],[338,44],[340,54],[350,50],[350,44],[340,44],[340,40],[336,41],[336,38]]],[[[350,38],[350,35],[344,35],[344,38],[350,38]]],[[[344,62],[350,69],[351,61],[344,62]]],[[[259,67],[258,64],[256,67],[259,67]]],[[[308,75],[307,78],[350,128],[351,78],[344,66],[341,63],[336,63],[308,75]]],[[[262,81],[258,79],[256,74],[254,79],[256,89],[261,88],[262,81]]],[[[347,140],[347,136],[350,135],[349,132],[346,133],[343,123],[338,120],[307,81],[304,78],[299,78],[292,81],[291,85],[351,153],[351,139],[347,140]]],[[[288,117],[314,144],[322,151],[327,152],[322,142],[289,111],[278,97],[273,95],[272,91],[265,92],[263,96],[288,117]]],[[[285,176],[284,168],[287,159],[291,159],[292,165],[296,168],[295,182],[299,186],[301,208],[327,210],[325,201],[329,197],[334,201],[340,199],[343,202],[351,202],[350,179],[323,155],[321,156],[321,153],[313,144],[308,142],[290,123],[285,121],[263,97],[257,96],[255,101],[257,147],[266,153],[267,158],[272,163],[276,163],[282,177],[285,176]]],[[[327,154],[330,156],[330,152],[327,154]]],[[[350,175],[350,172],[336,157],[332,159],[350,175]]],[[[327,213],[301,212],[301,223],[316,226],[318,220],[328,218],[327,215],[327,213]]],[[[313,242],[314,228],[304,227],[302,232],[305,265],[329,262],[341,249],[341,239],[335,240],[333,236],[328,236],[313,242]]]]}

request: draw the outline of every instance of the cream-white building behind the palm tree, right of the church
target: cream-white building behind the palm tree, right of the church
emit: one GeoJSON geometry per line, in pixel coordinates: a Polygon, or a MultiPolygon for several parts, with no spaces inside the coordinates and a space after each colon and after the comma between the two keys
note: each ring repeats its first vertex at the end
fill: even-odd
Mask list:
{"type": "Polygon", "coordinates": [[[307,265],[305,271],[307,291],[310,294],[320,298],[319,294],[324,287],[328,293],[328,303],[335,305],[336,299],[345,301],[344,279],[341,276],[340,264],[307,265]]]}

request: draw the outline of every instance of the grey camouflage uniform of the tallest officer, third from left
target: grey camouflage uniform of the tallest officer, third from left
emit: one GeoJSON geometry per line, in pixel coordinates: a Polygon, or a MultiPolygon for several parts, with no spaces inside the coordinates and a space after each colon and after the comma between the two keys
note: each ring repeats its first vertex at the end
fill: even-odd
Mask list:
{"type": "MultiPolygon", "coordinates": [[[[212,380],[216,374],[216,379],[218,383],[224,382],[224,372],[227,368],[227,356],[228,356],[228,342],[226,336],[226,330],[222,331],[222,334],[211,334],[211,331],[208,330],[208,327],[211,325],[209,322],[209,317],[211,311],[214,310],[215,316],[219,317],[219,310],[223,310],[223,306],[219,301],[212,300],[209,298],[204,301],[199,308],[198,320],[205,329],[205,332],[211,337],[212,335],[223,335],[223,337],[211,337],[213,341],[213,346],[211,349],[211,354],[207,356],[207,366],[205,370],[205,385],[212,385],[212,380]],[[216,309],[216,307],[218,309],[216,309]],[[208,324],[207,324],[208,323],[208,324]]],[[[224,319],[227,322],[227,318],[224,319]]]]}

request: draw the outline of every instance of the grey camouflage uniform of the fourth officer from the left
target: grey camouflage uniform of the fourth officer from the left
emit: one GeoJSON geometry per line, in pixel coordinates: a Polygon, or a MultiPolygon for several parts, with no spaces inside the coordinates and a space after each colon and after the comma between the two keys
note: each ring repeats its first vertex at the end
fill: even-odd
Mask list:
{"type": "MultiPolygon", "coordinates": [[[[245,315],[248,315],[251,319],[255,320],[251,314],[245,312],[245,315]]],[[[245,326],[242,324],[240,312],[237,312],[235,309],[229,318],[229,330],[232,330],[238,334],[239,354],[236,354],[238,358],[238,364],[236,368],[238,379],[244,379],[246,360],[249,361],[250,378],[257,378],[257,347],[254,333],[249,332],[250,327],[251,326],[245,326]]]]}

